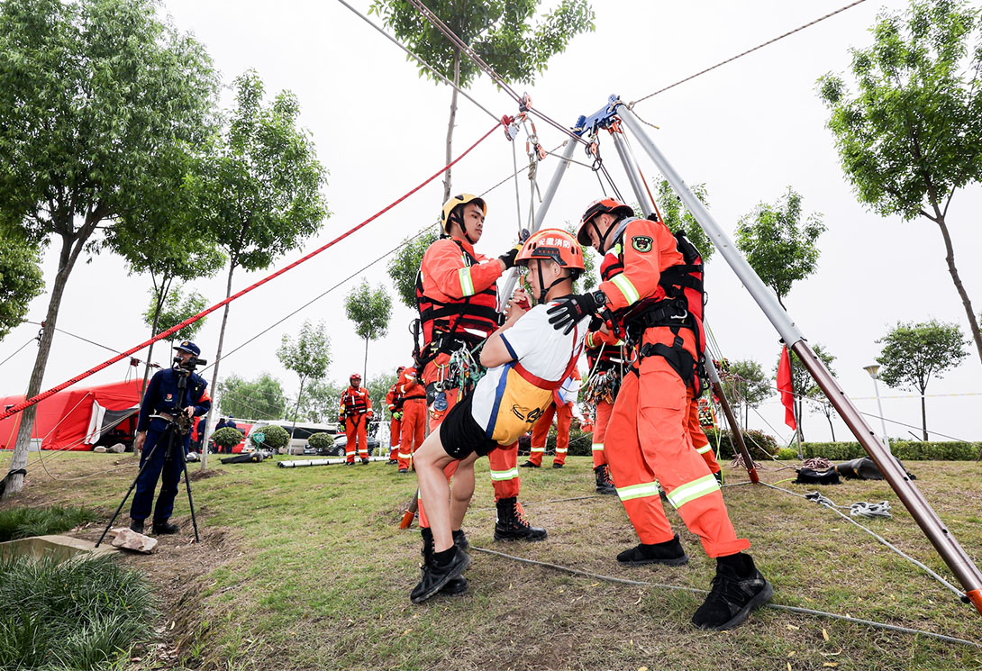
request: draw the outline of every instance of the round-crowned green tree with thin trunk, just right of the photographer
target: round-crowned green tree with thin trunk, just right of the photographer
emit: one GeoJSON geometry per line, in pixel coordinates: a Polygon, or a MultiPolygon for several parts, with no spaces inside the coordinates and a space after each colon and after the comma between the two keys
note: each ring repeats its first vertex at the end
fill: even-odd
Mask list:
{"type": "MultiPolygon", "coordinates": [[[[329,215],[320,188],[325,170],[317,161],[313,141],[297,127],[300,103],[289,91],[264,106],[263,85],[249,71],[236,79],[236,107],[230,123],[192,171],[202,228],[229,258],[226,298],[232,296],[237,268],[261,270],[277,256],[300,247],[329,215]]],[[[222,326],[215,351],[212,388],[218,380],[229,319],[222,326]]],[[[201,468],[207,468],[206,455],[201,468]]]]}

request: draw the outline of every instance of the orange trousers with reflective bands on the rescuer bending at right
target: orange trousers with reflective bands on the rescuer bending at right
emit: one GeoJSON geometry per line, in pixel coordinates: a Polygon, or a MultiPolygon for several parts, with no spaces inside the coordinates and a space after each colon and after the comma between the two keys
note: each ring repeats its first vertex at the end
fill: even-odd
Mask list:
{"type": "MultiPolygon", "coordinates": [[[[683,328],[680,335],[684,348],[694,353],[692,332],[683,328]]],[[[645,331],[643,343],[671,346],[674,339],[668,327],[655,327],[645,331]]],[[[674,537],[657,478],[682,522],[702,540],[706,554],[721,557],[747,549],[749,541],[736,537],[716,478],[692,447],[682,378],[659,356],[645,357],[640,372],[633,370],[625,375],[614,404],[604,451],[640,541],[661,543],[674,537]]]]}

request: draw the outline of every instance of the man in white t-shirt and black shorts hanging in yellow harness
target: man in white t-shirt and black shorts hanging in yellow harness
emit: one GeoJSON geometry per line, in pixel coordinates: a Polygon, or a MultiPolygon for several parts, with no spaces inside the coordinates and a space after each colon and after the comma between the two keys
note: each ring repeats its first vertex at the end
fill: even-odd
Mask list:
{"type": "Polygon", "coordinates": [[[422,579],[409,594],[413,603],[425,601],[458,579],[470,564],[464,550],[454,544],[451,530],[461,528],[473,495],[474,462],[499,446],[513,444],[542,417],[582,351],[587,324],[558,331],[546,314],[550,302],[573,293],[573,280],[583,271],[582,252],[573,236],[560,229],[539,231],[518,252],[516,264],[528,266],[538,305],[527,309],[525,293],[516,292],[505,324],[488,337],[481,351],[487,373],[414,456],[433,547],[423,548],[422,579]],[[443,469],[453,461],[460,465],[452,492],[443,469]]]}

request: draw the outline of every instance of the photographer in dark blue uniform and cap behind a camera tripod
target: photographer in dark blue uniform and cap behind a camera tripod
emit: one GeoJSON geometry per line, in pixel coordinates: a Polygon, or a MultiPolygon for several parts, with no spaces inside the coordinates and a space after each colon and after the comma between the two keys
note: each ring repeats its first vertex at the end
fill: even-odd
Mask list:
{"type": "Polygon", "coordinates": [[[153,532],[179,531],[178,526],[170,524],[168,520],[174,512],[174,498],[178,493],[184,458],[191,441],[193,418],[211,409],[211,398],[205,391],[207,382],[192,372],[201,354],[200,348],[186,340],[174,349],[178,353],[174,365],[153,375],[139,407],[134,447],[141,450],[140,468],[144,464],[146,466],[136,479],[136,495],[130,508],[130,529],[137,533],[143,532],[143,521],[150,515],[153,492],[161,473],[163,483],[153,510],[153,532]],[[183,376],[187,377],[187,388],[184,390],[183,407],[178,407],[182,393],[179,383],[183,376]],[[168,431],[172,421],[178,421],[182,434],[175,436],[173,449],[168,450],[168,431]]]}

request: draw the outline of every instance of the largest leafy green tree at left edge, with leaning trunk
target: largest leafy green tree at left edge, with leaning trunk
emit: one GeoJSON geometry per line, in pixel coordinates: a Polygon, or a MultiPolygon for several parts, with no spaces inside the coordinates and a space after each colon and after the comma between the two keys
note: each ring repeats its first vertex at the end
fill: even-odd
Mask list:
{"type": "MultiPolygon", "coordinates": [[[[103,222],[154,189],[178,147],[208,133],[217,80],[187,34],[157,20],[152,0],[8,0],[0,5],[0,222],[58,245],[27,396],[40,391],[72,269],[103,222]]],[[[27,464],[36,409],[18,431],[12,468],[27,464]]],[[[8,492],[20,491],[13,476],[8,492]]]]}

